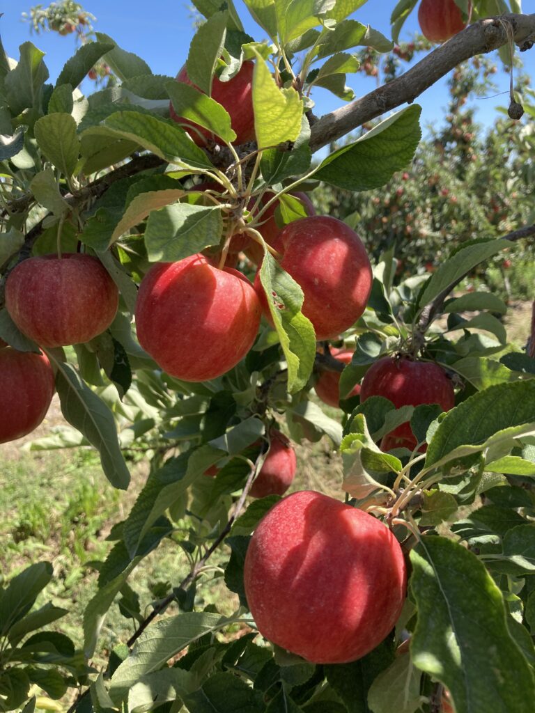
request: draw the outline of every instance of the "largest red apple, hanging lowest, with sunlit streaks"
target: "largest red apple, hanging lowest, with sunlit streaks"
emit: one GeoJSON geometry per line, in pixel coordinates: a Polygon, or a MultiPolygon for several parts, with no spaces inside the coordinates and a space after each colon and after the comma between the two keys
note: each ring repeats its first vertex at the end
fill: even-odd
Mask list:
{"type": "Polygon", "coordinates": [[[315,491],[271,508],[245,556],[258,630],[317,664],[355,661],[382,642],[402,610],[406,581],[402,550],[383,523],[315,491]]]}

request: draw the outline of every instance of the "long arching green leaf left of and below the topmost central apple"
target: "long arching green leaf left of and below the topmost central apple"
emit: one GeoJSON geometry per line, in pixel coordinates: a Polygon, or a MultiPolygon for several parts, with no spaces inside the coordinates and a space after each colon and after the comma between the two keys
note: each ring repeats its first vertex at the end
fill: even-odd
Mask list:
{"type": "Polygon", "coordinates": [[[88,128],[83,135],[111,135],[135,141],[180,168],[213,168],[204,151],[170,119],[138,111],[118,111],[108,116],[102,125],[88,128]]]}

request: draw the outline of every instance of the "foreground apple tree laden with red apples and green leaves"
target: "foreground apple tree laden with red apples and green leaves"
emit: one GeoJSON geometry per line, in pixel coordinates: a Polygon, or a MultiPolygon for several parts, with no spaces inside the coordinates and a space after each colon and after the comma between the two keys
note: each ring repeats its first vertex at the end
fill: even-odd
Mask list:
{"type": "MultiPolygon", "coordinates": [[[[355,51],[393,48],[364,1],[245,4],[259,39],[231,0],[195,0],[205,21],[169,76],[108,34],[55,81],[33,43],[17,61],[0,47],[0,441],[35,429],[55,388],[69,442],[96,448],[115,488],[129,448],[150,461],[81,647],[46,601],[51,563],[0,590],[0,707],[33,713],[41,690],[70,713],[531,713],[535,361],[499,297],[453,290],[535,226],[448,249],[444,224],[437,270],[400,282],[392,247],[370,260],[307,192],[407,170],[417,96],[474,56],[529,50],[535,16],[422,1],[429,35],[447,13],[429,36],[445,42],[355,99],[355,51]],[[83,96],[95,66],[116,84],[83,96]],[[316,87],[345,106],[315,116],[316,87]],[[285,496],[292,442],[324,436],[340,498],[285,496]],[[189,571],[147,608],[133,585],[164,540],[189,571]],[[200,605],[207,575],[230,615],[200,605]],[[103,652],[116,600],[136,630],[103,652]]],[[[394,40],[416,4],[390,8],[394,40]]],[[[53,11],[67,34],[91,19],[53,11]]]]}

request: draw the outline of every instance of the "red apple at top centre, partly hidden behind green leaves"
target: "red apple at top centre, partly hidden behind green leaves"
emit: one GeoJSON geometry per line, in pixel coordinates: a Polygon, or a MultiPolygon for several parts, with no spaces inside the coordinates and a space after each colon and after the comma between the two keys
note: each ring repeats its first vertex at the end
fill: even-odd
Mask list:
{"type": "MultiPolygon", "coordinates": [[[[242,64],[238,74],[228,82],[222,82],[216,76],[212,81],[212,98],[228,111],[230,124],[236,133],[236,138],[233,142],[235,144],[255,140],[255,112],[253,110],[254,68],[255,63],[248,60],[242,64]]],[[[178,72],[176,81],[195,86],[198,89],[188,77],[185,65],[178,72]]],[[[198,146],[205,146],[208,143],[208,139],[214,140],[220,146],[225,145],[225,142],[219,136],[215,136],[193,121],[188,121],[178,116],[172,102],[169,103],[169,114],[173,121],[185,124],[186,127],[187,125],[194,126],[197,129],[196,131],[191,131],[190,136],[198,146]]]]}

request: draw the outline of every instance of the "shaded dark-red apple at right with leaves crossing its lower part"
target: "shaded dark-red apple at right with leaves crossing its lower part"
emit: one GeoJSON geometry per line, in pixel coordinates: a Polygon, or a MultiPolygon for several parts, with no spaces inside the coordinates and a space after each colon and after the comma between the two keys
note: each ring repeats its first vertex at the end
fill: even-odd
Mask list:
{"type": "MultiPolygon", "coordinates": [[[[411,359],[409,356],[383,356],[370,366],[360,385],[361,403],[370,396],[384,396],[392,401],[396,409],[402,406],[439,404],[444,411],[449,411],[455,405],[452,380],[442,366],[433,361],[411,359]]],[[[388,450],[404,446],[412,451],[417,445],[409,421],[397,426],[387,436],[391,439],[386,441],[388,450]],[[399,445],[391,445],[396,442],[393,439],[397,439],[399,445]]]]}

